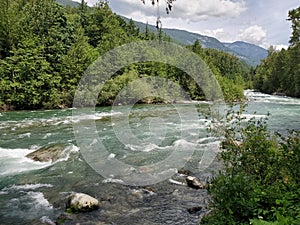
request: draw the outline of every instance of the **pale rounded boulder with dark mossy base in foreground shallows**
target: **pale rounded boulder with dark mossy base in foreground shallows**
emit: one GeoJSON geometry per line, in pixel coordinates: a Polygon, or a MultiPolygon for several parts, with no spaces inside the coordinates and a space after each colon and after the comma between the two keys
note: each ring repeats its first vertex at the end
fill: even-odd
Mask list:
{"type": "Polygon", "coordinates": [[[84,193],[73,193],[69,196],[67,210],[71,212],[89,212],[99,208],[99,201],[84,193]]]}

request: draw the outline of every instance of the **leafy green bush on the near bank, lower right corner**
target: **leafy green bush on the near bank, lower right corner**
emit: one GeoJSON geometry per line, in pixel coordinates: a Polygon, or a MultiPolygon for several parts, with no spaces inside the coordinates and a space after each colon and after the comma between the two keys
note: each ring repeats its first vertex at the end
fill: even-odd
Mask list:
{"type": "Polygon", "coordinates": [[[300,132],[273,134],[242,110],[227,119],[224,169],[212,181],[213,211],[201,224],[300,224],[300,132]]]}

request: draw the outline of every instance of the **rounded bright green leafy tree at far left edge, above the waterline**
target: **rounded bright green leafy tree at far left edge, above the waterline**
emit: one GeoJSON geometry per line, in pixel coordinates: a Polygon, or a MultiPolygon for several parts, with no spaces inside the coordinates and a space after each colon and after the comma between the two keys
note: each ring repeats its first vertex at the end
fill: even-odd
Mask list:
{"type": "Polygon", "coordinates": [[[25,38],[0,61],[2,101],[12,108],[41,108],[53,91],[50,65],[40,43],[39,38],[25,38]]]}

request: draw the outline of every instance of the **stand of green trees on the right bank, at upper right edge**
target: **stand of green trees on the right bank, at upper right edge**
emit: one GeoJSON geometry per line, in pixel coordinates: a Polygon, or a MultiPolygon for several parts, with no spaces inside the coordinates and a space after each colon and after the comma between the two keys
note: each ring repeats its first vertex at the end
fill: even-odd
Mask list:
{"type": "Polygon", "coordinates": [[[292,36],[287,50],[269,49],[256,70],[254,87],[262,92],[300,97],[300,7],[289,12],[292,36]]]}

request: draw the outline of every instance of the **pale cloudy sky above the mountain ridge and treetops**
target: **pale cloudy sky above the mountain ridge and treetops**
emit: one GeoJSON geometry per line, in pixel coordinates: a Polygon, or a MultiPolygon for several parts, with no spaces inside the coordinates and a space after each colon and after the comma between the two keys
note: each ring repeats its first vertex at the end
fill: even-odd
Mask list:
{"type": "MultiPolygon", "coordinates": [[[[80,1],[80,0],[76,0],[80,1]]],[[[86,0],[94,5],[97,0],[86,0]]],[[[215,37],[222,42],[245,41],[264,48],[288,46],[291,23],[288,11],[300,0],[176,0],[170,14],[165,0],[152,6],[150,0],[110,0],[111,9],[122,16],[163,28],[176,28],[215,37]]]]}

